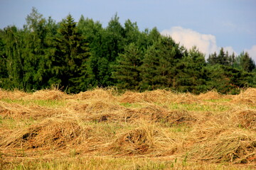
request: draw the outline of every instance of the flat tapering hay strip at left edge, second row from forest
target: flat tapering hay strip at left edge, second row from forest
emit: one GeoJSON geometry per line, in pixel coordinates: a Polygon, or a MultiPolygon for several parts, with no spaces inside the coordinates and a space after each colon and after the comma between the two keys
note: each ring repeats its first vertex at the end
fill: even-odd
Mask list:
{"type": "Polygon", "coordinates": [[[42,106],[23,106],[18,103],[6,103],[0,101],[0,114],[7,118],[47,118],[63,113],[63,110],[45,108],[42,106]]]}

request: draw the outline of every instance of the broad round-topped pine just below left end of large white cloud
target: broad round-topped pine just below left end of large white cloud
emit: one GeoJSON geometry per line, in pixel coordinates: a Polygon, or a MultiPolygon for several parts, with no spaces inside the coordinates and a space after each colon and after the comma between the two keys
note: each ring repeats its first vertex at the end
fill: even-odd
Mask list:
{"type": "Polygon", "coordinates": [[[175,88],[182,54],[171,38],[161,37],[146,51],[141,67],[143,89],[175,88]]]}

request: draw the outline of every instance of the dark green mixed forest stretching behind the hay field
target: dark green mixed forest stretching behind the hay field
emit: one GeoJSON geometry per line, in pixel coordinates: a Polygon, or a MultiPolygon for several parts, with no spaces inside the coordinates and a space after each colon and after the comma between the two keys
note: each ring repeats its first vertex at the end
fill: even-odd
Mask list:
{"type": "Polygon", "coordinates": [[[256,87],[255,62],[247,52],[204,55],[186,49],[157,28],[139,30],[115,14],[100,21],[71,14],[62,21],[32,8],[23,28],[0,29],[0,89],[36,91],[58,86],[68,94],[95,87],[200,94],[238,94],[256,87]]]}

